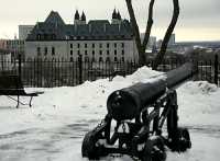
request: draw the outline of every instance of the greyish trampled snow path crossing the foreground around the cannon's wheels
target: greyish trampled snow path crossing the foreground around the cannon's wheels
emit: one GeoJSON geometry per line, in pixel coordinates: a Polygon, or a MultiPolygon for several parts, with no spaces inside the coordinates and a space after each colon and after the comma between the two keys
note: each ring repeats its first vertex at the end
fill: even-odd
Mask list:
{"type": "MultiPolygon", "coordinates": [[[[92,122],[92,120],[91,120],[92,122]]],[[[85,160],[80,157],[84,134],[89,130],[89,122],[72,124],[58,128],[31,128],[0,135],[1,161],[73,161],[85,160]]],[[[184,154],[168,152],[167,161],[201,161],[220,157],[220,126],[188,126],[193,149],[184,154]]],[[[129,161],[129,157],[105,158],[102,160],[129,161]]]]}

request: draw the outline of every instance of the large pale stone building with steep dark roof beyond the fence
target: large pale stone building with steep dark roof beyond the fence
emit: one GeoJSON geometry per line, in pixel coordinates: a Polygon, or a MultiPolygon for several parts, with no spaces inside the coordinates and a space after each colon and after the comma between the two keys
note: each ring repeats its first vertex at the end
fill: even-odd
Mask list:
{"type": "Polygon", "coordinates": [[[135,38],[128,20],[120,12],[108,20],[90,20],[76,11],[74,24],[65,24],[57,12],[52,11],[44,22],[36,23],[25,41],[26,58],[65,58],[117,61],[135,60],[139,55],[135,38]]]}

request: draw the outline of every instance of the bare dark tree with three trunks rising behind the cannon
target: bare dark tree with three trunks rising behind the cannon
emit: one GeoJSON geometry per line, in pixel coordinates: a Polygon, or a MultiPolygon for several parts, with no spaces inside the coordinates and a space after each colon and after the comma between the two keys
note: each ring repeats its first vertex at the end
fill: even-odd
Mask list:
{"type": "MultiPolygon", "coordinates": [[[[141,43],[140,30],[139,30],[139,25],[136,23],[136,19],[135,19],[133,5],[132,5],[132,0],[125,0],[125,2],[127,2],[127,8],[129,10],[129,15],[130,15],[130,19],[131,19],[131,24],[132,24],[132,28],[133,28],[133,32],[134,32],[134,36],[135,36],[136,48],[138,48],[138,51],[139,51],[139,62],[140,62],[141,66],[144,66],[144,65],[146,65],[145,49],[146,49],[146,45],[148,43],[148,38],[150,38],[150,35],[151,35],[151,30],[152,30],[152,25],[153,25],[153,8],[154,8],[155,0],[150,1],[148,20],[147,20],[147,25],[146,25],[143,43],[141,43]]],[[[162,60],[165,56],[166,49],[167,49],[167,45],[168,45],[170,35],[172,35],[172,33],[173,33],[173,31],[176,26],[177,20],[178,20],[178,15],[179,15],[179,2],[178,2],[178,0],[173,0],[173,4],[174,4],[173,18],[172,18],[169,26],[166,31],[166,34],[164,36],[160,53],[157,54],[155,61],[153,64],[153,69],[156,69],[158,67],[158,65],[162,62],[162,60]]]]}

